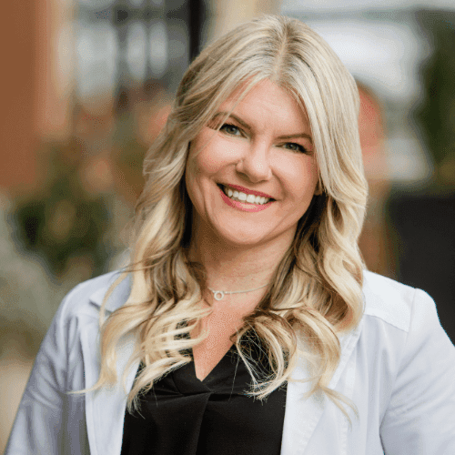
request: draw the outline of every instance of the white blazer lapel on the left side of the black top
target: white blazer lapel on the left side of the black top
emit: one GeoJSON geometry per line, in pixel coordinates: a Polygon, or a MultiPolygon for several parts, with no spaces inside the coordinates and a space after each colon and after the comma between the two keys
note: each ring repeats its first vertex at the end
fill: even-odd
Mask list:
{"type": "MultiPolygon", "coordinates": [[[[106,288],[99,288],[90,297],[91,302],[100,307],[106,295],[106,288]]],[[[106,314],[121,307],[130,293],[129,278],[124,279],[114,290],[106,303],[106,314]]],[[[86,388],[92,387],[99,376],[99,322],[92,319],[81,334],[84,367],[86,371],[86,388]]],[[[117,349],[116,386],[102,388],[86,394],[86,427],[90,452],[93,455],[120,454],[123,437],[123,423],[126,410],[126,398],[133,385],[138,368],[138,361],[127,371],[126,382],[123,374],[128,359],[135,349],[133,336],[121,339],[117,349]]]]}

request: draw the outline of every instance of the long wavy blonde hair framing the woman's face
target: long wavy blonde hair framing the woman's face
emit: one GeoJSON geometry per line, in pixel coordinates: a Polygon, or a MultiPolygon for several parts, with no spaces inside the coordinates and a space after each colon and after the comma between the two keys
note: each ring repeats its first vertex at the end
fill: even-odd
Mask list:
{"type": "Polygon", "coordinates": [[[210,312],[199,305],[205,283],[187,256],[193,209],[184,178],[189,142],[239,86],[263,79],[285,88],[305,109],[320,192],[299,220],[267,293],[244,318],[233,342],[251,374],[251,395],[267,397],[291,378],[298,356],[304,355],[314,366],[311,393],[323,390],[338,405],[343,400],[329,389],[340,357],[338,334],[354,328],[363,310],[357,241],[367,185],[359,145],[359,94],[319,35],[298,20],[266,16],[208,45],[189,66],[167,124],[145,158],[132,266],[125,272],[132,277],[131,294],[102,325],[101,372],[95,386],[116,382],[117,344],[134,333],[130,365],[141,360],[145,368],[129,392],[130,408],[157,379],[191,361],[188,349],[204,334],[191,339],[189,333],[210,312]],[[258,375],[246,342],[253,332],[268,359],[266,378],[258,375]]]}

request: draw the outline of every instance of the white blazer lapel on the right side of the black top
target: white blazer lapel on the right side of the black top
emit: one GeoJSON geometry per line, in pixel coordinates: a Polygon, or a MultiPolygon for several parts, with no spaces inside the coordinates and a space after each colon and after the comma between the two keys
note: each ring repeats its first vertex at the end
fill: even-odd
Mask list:
{"type": "MultiPolygon", "coordinates": [[[[330,389],[335,389],[349,357],[359,339],[360,326],[348,334],[340,337],[341,358],[339,366],[330,380],[330,389]]],[[[308,362],[299,359],[298,367],[288,381],[286,411],[283,426],[283,439],[281,443],[282,455],[303,455],[308,446],[318,422],[324,411],[325,402],[328,399],[324,393],[314,393],[308,398],[305,394],[310,389],[308,378],[310,377],[308,362]]]]}

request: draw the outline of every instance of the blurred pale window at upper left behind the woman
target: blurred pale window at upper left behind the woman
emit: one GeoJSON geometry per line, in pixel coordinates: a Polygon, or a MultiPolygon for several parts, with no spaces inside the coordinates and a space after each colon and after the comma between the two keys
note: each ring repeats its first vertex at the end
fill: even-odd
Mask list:
{"type": "Polygon", "coordinates": [[[174,91],[189,64],[191,0],[78,0],[76,94],[82,105],[119,87],[174,91]]]}

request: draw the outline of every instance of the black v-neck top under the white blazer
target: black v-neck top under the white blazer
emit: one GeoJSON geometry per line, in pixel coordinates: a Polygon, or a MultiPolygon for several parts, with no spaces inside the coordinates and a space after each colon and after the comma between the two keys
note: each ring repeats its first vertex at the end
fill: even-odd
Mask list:
{"type": "Polygon", "coordinates": [[[286,385],[261,401],[250,384],[235,345],[202,381],[193,361],[172,371],[126,410],[121,455],[278,455],[286,385]]]}

